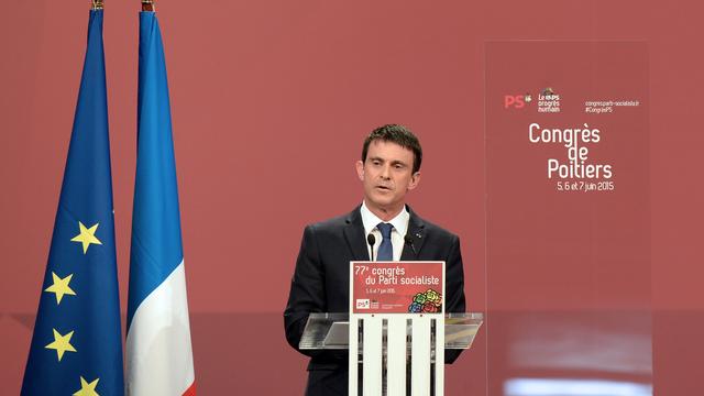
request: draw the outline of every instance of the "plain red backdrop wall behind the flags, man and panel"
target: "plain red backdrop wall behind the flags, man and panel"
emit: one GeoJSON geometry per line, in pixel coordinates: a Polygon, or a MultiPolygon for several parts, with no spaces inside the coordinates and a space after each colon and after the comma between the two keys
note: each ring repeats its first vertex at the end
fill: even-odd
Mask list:
{"type": "MultiPolygon", "coordinates": [[[[139,7],[109,1],[105,19],[123,307],[139,7]]],[[[0,8],[0,381],[16,394],[58,200],[88,4],[0,8]]],[[[700,2],[164,1],[157,9],[204,394],[300,394],[306,361],[286,345],[280,312],[302,227],[360,201],[353,163],[364,135],[383,123],[407,124],[420,136],[427,154],[410,204],[460,234],[469,308],[488,308],[491,318],[484,51],[486,41],[516,38],[647,43],[652,386],[661,395],[704,388],[700,2]],[[249,340],[260,337],[263,346],[249,340]],[[272,373],[282,380],[268,381],[272,373]]],[[[519,304],[502,306],[502,312],[512,310],[530,314],[519,304]]],[[[503,392],[487,378],[501,383],[512,374],[505,359],[487,359],[504,352],[492,354],[486,337],[481,333],[474,350],[449,367],[449,394],[503,392]]]]}

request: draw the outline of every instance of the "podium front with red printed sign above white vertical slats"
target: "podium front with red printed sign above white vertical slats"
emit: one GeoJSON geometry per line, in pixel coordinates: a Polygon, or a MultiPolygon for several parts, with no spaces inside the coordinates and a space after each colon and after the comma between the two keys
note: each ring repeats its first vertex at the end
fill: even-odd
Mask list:
{"type": "Polygon", "coordinates": [[[349,394],[442,395],[443,311],[444,262],[350,262],[349,394]]]}

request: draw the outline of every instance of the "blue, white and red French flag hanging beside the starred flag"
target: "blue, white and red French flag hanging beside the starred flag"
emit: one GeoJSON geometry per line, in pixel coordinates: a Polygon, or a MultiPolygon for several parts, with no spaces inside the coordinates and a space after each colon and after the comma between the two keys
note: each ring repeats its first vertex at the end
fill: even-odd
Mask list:
{"type": "Polygon", "coordinates": [[[168,84],[153,11],[140,13],[139,73],[127,393],[195,395],[168,84]]]}

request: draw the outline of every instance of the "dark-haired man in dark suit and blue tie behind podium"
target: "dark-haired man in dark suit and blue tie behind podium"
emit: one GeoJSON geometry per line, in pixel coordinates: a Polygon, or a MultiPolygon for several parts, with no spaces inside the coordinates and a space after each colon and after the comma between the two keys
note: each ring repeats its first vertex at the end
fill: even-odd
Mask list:
{"type": "MultiPolygon", "coordinates": [[[[405,127],[389,124],[364,141],[356,173],[362,205],[350,213],[306,227],[292,279],[284,326],[288,343],[309,355],[307,396],[348,394],[346,351],[301,351],[298,343],[310,312],[348,312],[350,261],[446,262],[446,309],[464,312],[464,275],[457,235],[406,206],[420,182],[422,150],[405,127]],[[374,235],[373,249],[367,235],[374,235]]],[[[453,362],[454,351],[446,352],[453,362]]]]}

